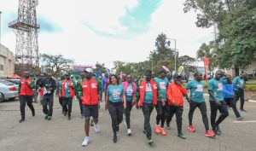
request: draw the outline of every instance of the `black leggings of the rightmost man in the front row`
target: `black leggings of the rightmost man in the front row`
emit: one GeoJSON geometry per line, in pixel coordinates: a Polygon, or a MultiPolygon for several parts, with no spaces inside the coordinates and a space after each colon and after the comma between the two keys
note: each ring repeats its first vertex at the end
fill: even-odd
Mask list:
{"type": "Polygon", "coordinates": [[[224,119],[229,116],[229,111],[226,102],[220,102],[221,105],[217,106],[215,102],[210,102],[211,106],[211,125],[212,129],[215,129],[224,119]],[[219,117],[216,121],[217,111],[219,110],[219,117]]]}

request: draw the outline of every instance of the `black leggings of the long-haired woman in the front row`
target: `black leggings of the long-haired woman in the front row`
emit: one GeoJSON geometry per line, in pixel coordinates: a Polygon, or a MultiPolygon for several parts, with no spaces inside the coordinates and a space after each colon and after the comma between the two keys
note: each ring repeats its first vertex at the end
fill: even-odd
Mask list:
{"type": "Polygon", "coordinates": [[[122,102],[110,102],[108,101],[108,111],[110,113],[111,119],[112,119],[112,129],[113,129],[113,135],[116,135],[116,132],[118,131],[118,126],[120,123],[122,123],[123,120],[123,112],[124,107],[122,102]]]}

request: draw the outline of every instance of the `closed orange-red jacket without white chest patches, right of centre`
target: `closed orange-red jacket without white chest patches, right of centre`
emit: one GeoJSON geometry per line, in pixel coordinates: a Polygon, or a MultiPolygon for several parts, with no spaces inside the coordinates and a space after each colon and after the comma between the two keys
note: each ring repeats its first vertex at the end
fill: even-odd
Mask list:
{"type": "Polygon", "coordinates": [[[177,106],[183,107],[183,95],[187,94],[188,92],[183,85],[179,86],[175,82],[168,84],[167,98],[169,106],[174,106],[174,102],[176,102],[177,106]]]}

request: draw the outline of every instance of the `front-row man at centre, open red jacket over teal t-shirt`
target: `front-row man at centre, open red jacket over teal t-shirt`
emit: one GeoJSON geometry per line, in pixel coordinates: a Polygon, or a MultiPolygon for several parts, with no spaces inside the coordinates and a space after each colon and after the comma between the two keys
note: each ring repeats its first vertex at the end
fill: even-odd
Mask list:
{"type": "Polygon", "coordinates": [[[157,97],[163,99],[161,96],[160,88],[157,83],[152,79],[152,71],[146,71],[146,79],[140,83],[139,90],[137,92],[138,106],[143,108],[144,115],[144,130],[143,132],[147,135],[148,144],[152,144],[151,139],[152,130],[150,125],[150,115],[157,104],[157,97]]]}

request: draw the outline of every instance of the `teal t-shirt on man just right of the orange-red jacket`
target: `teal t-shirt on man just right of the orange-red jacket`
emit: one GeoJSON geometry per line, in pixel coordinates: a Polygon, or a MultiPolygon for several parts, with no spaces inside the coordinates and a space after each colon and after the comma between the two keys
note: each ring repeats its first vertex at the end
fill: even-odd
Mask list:
{"type": "Polygon", "coordinates": [[[186,84],[185,89],[190,91],[190,99],[193,102],[205,102],[204,83],[195,79],[186,84]]]}

